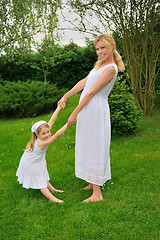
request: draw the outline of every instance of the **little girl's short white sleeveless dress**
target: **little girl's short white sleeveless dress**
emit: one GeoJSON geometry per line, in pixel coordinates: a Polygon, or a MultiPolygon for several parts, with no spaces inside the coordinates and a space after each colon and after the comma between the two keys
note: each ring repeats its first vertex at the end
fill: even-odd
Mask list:
{"type": "Polygon", "coordinates": [[[38,141],[35,141],[32,152],[24,152],[16,176],[24,188],[41,189],[47,187],[49,174],[46,164],[46,150],[39,149],[38,141]]]}

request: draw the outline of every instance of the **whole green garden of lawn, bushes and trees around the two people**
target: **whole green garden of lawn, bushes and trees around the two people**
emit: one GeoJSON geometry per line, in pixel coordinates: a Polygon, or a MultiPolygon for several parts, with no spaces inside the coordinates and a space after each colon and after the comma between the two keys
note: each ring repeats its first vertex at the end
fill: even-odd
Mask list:
{"type": "MultiPolygon", "coordinates": [[[[86,183],[74,174],[74,124],[47,150],[51,183],[65,191],[55,194],[64,200],[57,204],[49,202],[38,190],[23,189],[15,174],[33,123],[48,121],[60,97],[93,68],[97,58],[93,41],[86,39],[85,47],[73,41],[60,44],[55,33],[57,10],[64,7],[60,1],[2,1],[1,239],[159,239],[159,5],[148,0],[136,0],[134,4],[126,1],[126,5],[124,2],[98,1],[94,5],[95,1],[66,1],[80,14],[81,27],[90,9],[96,10],[99,21],[102,16],[110,16],[110,21],[117,24],[121,19],[122,28],[115,25],[112,35],[126,71],[119,73],[109,97],[112,179],[102,188],[104,200],[82,203],[91,190],[84,191],[86,183]],[[116,15],[114,11],[113,15],[104,14],[110,7],[116,15]],[[34,45],[32,36],[42,30],[43,41],[34,45]]],[[[80,26],[78,29],[84,31],[80,26]]],[[[92,30],[93,35],[99,32],[96,26],[92,30]]],[[[66,123],[79,97],[80,93],[68,99],[52,134],[66,123]]]]}

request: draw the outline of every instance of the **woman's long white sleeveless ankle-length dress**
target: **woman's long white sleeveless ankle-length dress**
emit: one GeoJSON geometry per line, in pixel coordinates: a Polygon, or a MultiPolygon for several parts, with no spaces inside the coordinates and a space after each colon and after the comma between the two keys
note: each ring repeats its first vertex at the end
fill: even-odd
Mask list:
{"type": "Polygon", "coordinates": [[[89,103],[79,112],[76,126],[75,174],[89,183],[103,186],[111,179],[110,168],[110,109],[108,95],[115,83],[118,68],[108,64],[88,75],[80,101],[109,66],[116,70],[114,78],[97,92],[89,103]]]}

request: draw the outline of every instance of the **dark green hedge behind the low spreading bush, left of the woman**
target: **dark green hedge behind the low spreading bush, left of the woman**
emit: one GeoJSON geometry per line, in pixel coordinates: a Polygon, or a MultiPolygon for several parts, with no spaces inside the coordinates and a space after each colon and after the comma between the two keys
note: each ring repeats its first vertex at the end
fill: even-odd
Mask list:
{"type": "Polygon", "coordinates": [[[23,52],[11,62],[5,62],[5,56],[1,57],[0,72],[2,79],[7,81],[44,81],[46,75],[46,81],[59,88],[71,88],[88,75],[96,59],[91,45],[85,48],[70,43],[61,47],[45,42],[38,53],[23,52]]]}

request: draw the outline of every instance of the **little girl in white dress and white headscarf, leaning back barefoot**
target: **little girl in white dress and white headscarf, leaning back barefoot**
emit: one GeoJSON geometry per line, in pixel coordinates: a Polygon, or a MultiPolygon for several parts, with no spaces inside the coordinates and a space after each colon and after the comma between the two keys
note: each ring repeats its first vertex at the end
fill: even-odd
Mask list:
{"type": "Polygon", "coordinates": [[[49,183],[49,174],[46,166],[45,154],[47,147],[59,138],[67,129],[65,124],[53,136],[50,129],[54,124],[59,111],[64,108],[58,106],[49,122],[39,121],[32,126],[32,138],[26,146],[16,173],[18,181],[24,188],[40,189],[40,191],[53,202],[63,201],[54,197],[53,192],[63,192],[55,189],[49,183]]]}

